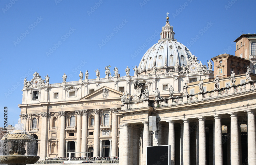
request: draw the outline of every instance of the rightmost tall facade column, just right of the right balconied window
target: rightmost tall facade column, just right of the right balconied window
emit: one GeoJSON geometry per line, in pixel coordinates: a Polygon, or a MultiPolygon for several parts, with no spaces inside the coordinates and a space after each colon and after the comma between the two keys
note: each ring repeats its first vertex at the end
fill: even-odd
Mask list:
{"type": "Polygon", "coordinates": [[[116,113],[117,113],[117,108],[110,108],[111,112],[112,112],[112,147],[111,147],[111,157],[117,157],[117,152],[116,152],[116,144],[117,144],[117,117],[116,117],[116,113]]]}

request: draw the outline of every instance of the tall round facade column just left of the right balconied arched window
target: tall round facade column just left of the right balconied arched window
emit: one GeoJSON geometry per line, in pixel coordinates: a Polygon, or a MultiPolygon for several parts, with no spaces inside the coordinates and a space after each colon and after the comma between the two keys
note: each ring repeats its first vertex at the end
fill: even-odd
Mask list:
{"type": "Polygon", "coordinates": [[[99,113],[100,109],[93,109],[94,113],[94,146],[93,146],[93,157],[99,157],[99,113]]]}

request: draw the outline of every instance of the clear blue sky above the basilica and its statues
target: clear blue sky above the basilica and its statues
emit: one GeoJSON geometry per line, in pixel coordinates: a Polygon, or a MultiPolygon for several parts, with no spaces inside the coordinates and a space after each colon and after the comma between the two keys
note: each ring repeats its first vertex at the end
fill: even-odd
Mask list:
{"type": "Polygon", "coordinates": [[[222,53],[234,55],[233,41],[256,32],[255,5],[241,0],[1,0],[0,113],[8,107],[8,123],[17,123],[24,77],[31,80],[35,71],[48,74],[50,83],[62,82],[64,72],[67,81],[86,70],[93,79],[94,69],[103,73],[106,65],[112,74],[119,67],[125,76],[126,66],[138,65],[160,39],[167,12],[177,41],[203,64],[222,53]]]}

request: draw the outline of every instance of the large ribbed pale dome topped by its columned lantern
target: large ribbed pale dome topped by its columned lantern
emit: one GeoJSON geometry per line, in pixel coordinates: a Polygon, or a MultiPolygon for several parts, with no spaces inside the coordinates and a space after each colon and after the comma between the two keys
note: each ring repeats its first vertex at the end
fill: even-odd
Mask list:
{"type": "Polygon", "coordinates": [[[192,56],[189,49],[174,38],[173,26],[169,21],[162,28],[161,39],[144,54],[138,66],[139,74],[150,74],[155,66],[158,72],[173,72],[178,61],[180,66],[186,66],[192,56]]]}

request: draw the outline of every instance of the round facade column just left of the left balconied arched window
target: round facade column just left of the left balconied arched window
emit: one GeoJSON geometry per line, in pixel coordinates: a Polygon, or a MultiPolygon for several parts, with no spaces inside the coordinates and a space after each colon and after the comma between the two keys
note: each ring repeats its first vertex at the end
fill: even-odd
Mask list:
{"type": "Polygon", "coordinates": [[[60,150],[59,150],[59,157],[64,157],[64,145],[65,145],[65,117],[66,117],[66,112],[65,111],[60,111],[59,117],[60,117],[60,150]]]}

